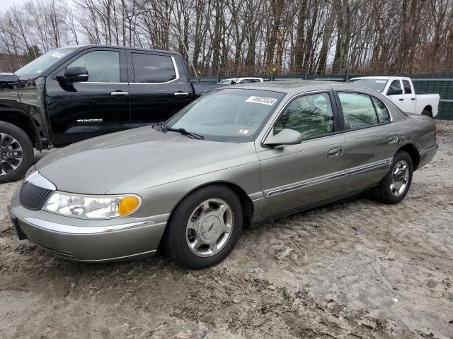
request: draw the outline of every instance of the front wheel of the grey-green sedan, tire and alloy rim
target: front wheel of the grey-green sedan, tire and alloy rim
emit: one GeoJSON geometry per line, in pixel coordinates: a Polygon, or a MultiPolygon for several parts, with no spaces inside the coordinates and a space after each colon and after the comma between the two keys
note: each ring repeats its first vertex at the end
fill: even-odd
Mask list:
{"type": "Polygon", "coordinates": [[[242,206],[234,191],[223,185],[207,186],[185,197],[173,210],[164,246],[181,266],[207,268],[230,254],[242,226],[242,206]]]}

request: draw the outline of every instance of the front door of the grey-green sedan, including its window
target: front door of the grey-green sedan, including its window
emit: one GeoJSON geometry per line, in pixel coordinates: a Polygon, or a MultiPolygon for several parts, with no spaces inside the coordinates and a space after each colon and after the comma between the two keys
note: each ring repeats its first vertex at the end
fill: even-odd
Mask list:
{"type": "Polygon", "coordinates": [[[270,133],[294,129],[299,145],[260,148],[263,218],[339,196],[345,184],[345,138],[333,93],[301,95],[289,102],[270,133]]]}

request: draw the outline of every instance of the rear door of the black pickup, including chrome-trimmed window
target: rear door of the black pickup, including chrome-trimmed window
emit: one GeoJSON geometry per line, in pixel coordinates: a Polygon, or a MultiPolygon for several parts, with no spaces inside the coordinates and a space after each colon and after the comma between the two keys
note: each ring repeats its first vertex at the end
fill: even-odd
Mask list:
{"type": "Polygon", "coordinates": [[[127,64],[132,127],[165,121],[195,100],[178,54],[130,50],[127,64]]]}

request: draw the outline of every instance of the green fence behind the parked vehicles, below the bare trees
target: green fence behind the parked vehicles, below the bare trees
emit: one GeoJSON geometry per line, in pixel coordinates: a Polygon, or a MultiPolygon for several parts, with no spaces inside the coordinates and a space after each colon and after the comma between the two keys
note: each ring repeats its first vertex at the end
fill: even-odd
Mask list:
{"type": "MultiPolygon", "coordinates": [[[[275,75],[275,76],[263,76],[256,75],[263,78],[265,81],[270,80],[288,80],[288,79],[302,79],[302,80],[328,80],[328,81],[347,81],[350,78],[354,78],[352,75],[306,75],[306,76],[286,76],[286,75],[275,75]]],[[[361,74],[360,76],[372,76],[372,74],[361,74]]],[[[401,75],[409,76],[413,81],[415,93],[417,94],[430,94],[437,93],[440,95],[439,103],[439,114],[436,119],[453,120],[453,74],[436,74],[436,75],[401,75]]],[[[200,76],[199,79],[193,79],[193,81],[200,81],[200,83],[218,83],[224,78],[231,78],[227,76],[200,76]]]]}

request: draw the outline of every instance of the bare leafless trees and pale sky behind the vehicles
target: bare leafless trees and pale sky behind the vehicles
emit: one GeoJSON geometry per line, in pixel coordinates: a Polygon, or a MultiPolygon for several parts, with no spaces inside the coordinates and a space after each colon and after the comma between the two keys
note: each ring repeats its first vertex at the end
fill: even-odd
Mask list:
{"type": "Polygon", "coordinates": [[[29,0],[0,13],[3,69],[69,44],[170,49],[210,76],[453,73],[453,0],[29,0]]]}

